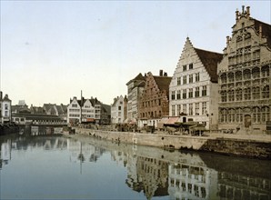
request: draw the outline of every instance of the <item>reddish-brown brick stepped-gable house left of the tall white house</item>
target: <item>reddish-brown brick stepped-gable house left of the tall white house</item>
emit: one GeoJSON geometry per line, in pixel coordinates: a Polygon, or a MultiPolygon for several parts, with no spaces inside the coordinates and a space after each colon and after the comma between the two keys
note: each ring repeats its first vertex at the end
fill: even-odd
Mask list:
{"type": "Polygon", "coordinates": [[[168,116],[168,91],[171,78],[166,73],[163,74],[163,70],[160,70],[159,75],[147,73],[146,85],[139,101],[139,127],[157,126],[163,116],[168,116]]]}

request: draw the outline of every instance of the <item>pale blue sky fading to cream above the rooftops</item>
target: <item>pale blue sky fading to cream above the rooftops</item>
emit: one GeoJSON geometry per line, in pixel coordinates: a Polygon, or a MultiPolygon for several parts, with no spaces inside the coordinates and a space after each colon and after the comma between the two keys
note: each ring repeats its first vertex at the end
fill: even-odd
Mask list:
{"type": "Polygon", "coordinates": [[[17,105],[111,105],[136,75],[174,75],[188,36],[222,53],[236,9],[271,24],[270,1],[4,1],[0,90],[17,105]]]}

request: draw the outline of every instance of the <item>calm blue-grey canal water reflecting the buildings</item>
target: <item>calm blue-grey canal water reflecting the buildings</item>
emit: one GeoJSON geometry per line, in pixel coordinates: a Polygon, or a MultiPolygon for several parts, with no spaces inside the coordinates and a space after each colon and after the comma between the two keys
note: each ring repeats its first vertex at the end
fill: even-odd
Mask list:
{"type": "Polygon", "coordinates": [[[0,137],[0,199],[271,199],[271,161],[83,135],[0,137]]]}

